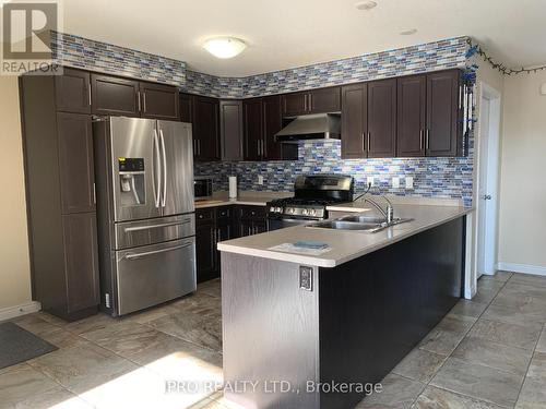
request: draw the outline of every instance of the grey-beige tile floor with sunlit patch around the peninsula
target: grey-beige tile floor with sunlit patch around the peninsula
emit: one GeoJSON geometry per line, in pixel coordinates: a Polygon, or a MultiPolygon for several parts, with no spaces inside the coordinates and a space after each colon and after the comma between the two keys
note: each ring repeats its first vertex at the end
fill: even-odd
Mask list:
{"type": "MultiPolygon", "coordinates": [[[[165,394],[165,381],[222,382],[219,281],[121,320],[14,320],[59,350],[0,370],[0,408],[235,408],[221,393],[165,394]]],[[[478,281],[357,408],[546,408],[546,277],[478,281]]]]}

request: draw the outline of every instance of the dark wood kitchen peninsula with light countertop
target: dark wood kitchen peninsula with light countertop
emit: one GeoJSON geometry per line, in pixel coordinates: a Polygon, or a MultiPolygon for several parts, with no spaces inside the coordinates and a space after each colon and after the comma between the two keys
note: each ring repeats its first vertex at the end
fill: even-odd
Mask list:
{"type": "Polygon", "coordinates": [[[462,294],[470,212],[397,205],[413,220],[375,233],[297,226],[218,243],[224,380],[258,383],[226,397],[248,408],[355,406],[361,390],[307,386],[380,382],[449,312],[462,294]],[[272,250],[297,241],[328,249],[272,250]],[[272,381],[290,390],[272,393],[272,381]]]}

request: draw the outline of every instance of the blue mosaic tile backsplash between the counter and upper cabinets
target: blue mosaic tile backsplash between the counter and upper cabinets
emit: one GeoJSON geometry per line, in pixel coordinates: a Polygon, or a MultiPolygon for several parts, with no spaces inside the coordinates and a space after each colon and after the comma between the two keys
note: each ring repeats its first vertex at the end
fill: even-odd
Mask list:
{"type": "MultiPolygon", "coordinates": [[[[367,178],[375,178],[376,193],[420,197],[462,199],[472,205],[472,160],[461,158],[389,158],[342,159],[340,141],[305,142],[299,144],[299,159],[294,161],[240,161],[195,164],[195,175],[214,177],[214,190],[228,190],[230,175],[237,176],[240,190],[294,190],[298,175],[344,173],[355,178],[356,191],[366,189],[367,178]],[[258,176],[263,184],[258,184],[258,176]],[[405,189],[405,177],[414,178],[412,190],[405,189]],[[393,189],[393,177],[400,188],[393,189]]],[[[473,146],[470,147],[473,154],[473,146]]]]}

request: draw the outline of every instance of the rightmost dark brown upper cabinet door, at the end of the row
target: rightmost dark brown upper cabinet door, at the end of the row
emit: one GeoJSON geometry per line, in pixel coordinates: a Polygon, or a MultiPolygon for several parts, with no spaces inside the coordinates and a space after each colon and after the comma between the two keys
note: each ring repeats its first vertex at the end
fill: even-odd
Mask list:
{"type": "Polygon", "coordinates": [[[427,156],[456,156],[459,70],[427,75],[427,156]]]}

